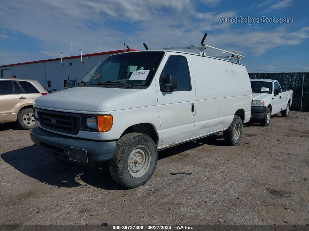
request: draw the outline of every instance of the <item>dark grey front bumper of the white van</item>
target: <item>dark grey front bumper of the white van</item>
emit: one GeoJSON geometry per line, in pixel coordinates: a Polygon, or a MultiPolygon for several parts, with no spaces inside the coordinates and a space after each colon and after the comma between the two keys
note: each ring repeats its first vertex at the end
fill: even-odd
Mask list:
{"type": "Polygon", "coordinates": [[[85,140],[51,133],[35,127],[30,132],[32,142],[42,147],[52,157],[64,161],[95,167],[95,163],[110,160],[116,150],[116,141],[85,140]],[[68,148],[87,150],[87,163],[69,159],[68,148]]]}

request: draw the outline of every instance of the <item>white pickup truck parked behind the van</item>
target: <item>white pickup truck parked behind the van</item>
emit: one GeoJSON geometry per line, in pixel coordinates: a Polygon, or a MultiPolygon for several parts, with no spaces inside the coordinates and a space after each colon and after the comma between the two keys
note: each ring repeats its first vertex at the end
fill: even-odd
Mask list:
{"type": "Polygon", "coordinates": [[[282,117],[288,117],[293,100],[293,90],[281,89],[277,80],[252,79],[251,121],[260,121],[262,126],[268,126],[271,115],[281,112],[282,117]]]}

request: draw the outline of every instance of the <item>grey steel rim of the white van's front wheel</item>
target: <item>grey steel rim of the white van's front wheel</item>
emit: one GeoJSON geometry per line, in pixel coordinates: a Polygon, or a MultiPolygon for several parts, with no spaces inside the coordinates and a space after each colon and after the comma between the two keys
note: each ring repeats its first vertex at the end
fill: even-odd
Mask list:
{"type": "Polygon", "coordinates": [[[131,176],[138,178],[144,175],[150,166],[151,156],[149,149],[139,145],[131,151],[128,157],[128,171],[131,176]]]}

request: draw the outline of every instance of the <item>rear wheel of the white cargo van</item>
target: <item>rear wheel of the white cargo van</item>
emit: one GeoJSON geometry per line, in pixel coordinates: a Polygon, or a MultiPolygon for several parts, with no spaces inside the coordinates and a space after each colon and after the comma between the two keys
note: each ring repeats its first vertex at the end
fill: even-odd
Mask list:
{"type": "Polygon", "coordinates": [[[234,119],[229,128],[223,131],[223,140],[226,143],[235,146],[239,143],[242,133],[243,122],[241,121],[241,118],[239,116],[234,116],[234,119]]]}

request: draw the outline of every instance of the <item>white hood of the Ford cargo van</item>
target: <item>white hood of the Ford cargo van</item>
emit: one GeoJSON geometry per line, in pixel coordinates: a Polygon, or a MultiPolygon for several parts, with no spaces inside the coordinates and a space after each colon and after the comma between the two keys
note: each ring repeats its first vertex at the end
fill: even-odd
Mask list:
{"type": "Polygon", "coordinates": [[[98,112],[99,105],[103,102],[135,91],[137,89],[74,87],[39,97],[35,100],[34,106],[44,109],[98,112]]]}

